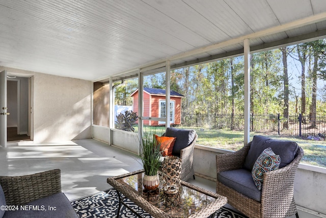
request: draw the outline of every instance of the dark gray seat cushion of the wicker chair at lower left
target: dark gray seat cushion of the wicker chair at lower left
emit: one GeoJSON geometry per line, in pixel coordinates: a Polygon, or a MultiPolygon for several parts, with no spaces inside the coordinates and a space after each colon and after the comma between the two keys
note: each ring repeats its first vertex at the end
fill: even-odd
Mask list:
{"type": "Polygon", "coordinates": [[[18,211],[6,211],[3,218],[8,217],[26,217],[26,218],[43,218],[43,217],[76,217],[79,216],[71,206],[70,201],[67,199],[64,193],[55,193],[45,198],[40,198],[35,201],[31,201],[25,205],[38,205],[39,209],[31,210],[18,210],[18,211]],[[49,210],[49,207],[55,208],[56,210],[49,210]],[[42,209],[44,208],[44,210],[42,209]]]}

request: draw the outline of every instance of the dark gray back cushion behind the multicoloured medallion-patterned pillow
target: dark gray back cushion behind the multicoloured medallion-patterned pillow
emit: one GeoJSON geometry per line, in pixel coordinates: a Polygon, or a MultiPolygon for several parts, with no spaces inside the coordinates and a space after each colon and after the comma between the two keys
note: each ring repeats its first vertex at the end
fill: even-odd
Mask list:
{"type": "Polygon", "coordinates": [[[259,155],[267,148],[271,148],[276,155],[280,155],[281,163],[279,168],[282,168],[294,159],[298,145],[294,141],[277,140],[255,135],[244,162],[244,168],[251,171],[259,155]]]}

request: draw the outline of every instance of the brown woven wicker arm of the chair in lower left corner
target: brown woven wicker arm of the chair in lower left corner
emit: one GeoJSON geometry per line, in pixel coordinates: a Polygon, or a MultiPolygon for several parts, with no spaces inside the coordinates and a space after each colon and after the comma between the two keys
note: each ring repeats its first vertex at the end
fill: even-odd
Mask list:
{"type": "Polygon", "coordinates": [[[8,205],[25,204],[61,192],[61,171],[36,173],[26,176],[0,176],[8,205]]]}

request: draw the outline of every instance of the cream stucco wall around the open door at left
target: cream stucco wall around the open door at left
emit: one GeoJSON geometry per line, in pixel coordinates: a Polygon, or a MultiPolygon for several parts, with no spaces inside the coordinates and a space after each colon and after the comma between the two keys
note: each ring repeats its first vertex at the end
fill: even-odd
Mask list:
{"type": "Polygon", "coordinates": [[[13,68],[8,74],[31,76],[34,142],[91,138],[91,81],[13,68]]]}

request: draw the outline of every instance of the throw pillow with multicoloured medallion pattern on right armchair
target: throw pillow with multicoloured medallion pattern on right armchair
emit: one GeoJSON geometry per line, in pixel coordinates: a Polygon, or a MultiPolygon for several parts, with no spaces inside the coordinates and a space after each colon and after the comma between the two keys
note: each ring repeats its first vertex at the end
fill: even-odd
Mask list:
{"type": "Polygon", "coordinates": [[[265,149],[257,158],[251,174],[259,190],[263,185],[263,174],[278,169],[281,163],[280,155],[276,155],[271,148],[265,149]]]}

